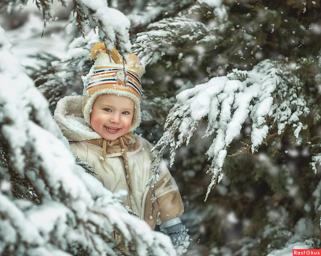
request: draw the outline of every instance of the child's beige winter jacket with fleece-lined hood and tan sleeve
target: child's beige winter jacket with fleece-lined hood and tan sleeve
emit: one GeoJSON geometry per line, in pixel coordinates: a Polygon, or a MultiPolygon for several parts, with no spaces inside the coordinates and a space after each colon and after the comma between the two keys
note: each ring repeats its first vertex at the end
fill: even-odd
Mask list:
{"type": "Polygon", "coordinates": [[[100,135],[86,125],[82,117],[81,96],[67,96],[61,99],[56,107],[54,119],[71,142],[74,154],[82,161],[88,162],[95,170],[95,177],[104,187],[117,192],[127,190],[123,198],[124,206],[128,206],[145,220],[152,229],[156,220],[170,220],[179,217],[184,212],[184,206],[175,180],[170,175],[166,164],[162,161],[159,168],[159,181],[155,186],[154,214],[152,215],[152,190],[146,186],[152,176],[152,158],[150,153],[153,145],[137,135],[135,143],[128,147],[127,159],[129,163],[133,191],[128,191],[126,184],[125,168],[119,145],[108,147],[107,155],[103,162],[100,161],[102,147],[86,142],[90,139],[100,139],[100,135]]]}

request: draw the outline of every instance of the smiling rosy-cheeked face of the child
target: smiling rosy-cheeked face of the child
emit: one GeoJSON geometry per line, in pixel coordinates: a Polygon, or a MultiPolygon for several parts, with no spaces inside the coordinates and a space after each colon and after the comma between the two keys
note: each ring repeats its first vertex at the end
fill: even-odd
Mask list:
{"type": "Polygon", "coordinates": [[[102,94],[92,106],[91,128],[104,139],[115,140],[129,131],[133,114],[133,100],[114,94],[102,94]]]}

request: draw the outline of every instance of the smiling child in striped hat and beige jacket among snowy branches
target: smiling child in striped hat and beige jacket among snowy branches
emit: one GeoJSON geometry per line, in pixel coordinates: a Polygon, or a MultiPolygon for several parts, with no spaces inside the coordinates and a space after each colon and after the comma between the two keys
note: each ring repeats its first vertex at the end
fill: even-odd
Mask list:
{"type": "MultiPolygon", "coordinates": [[[[95,177],[104,187],[112,192],[127,190],[124,206],[152,229],[160,220],[161,229],[171,237],[173,245],[182,249],[188,246],[189,238],[180,220],[184,206],[176,182],[163,162],[152,211],[152,188],[146,184],[152,176],[153,145],[132,133],[141,123],[140,78],[144,67],[136,55],[128,57],[123,63],[115,47],[110,52],[101,42],[93,44],[91,60],[96,60],[82,77],[83,96],[59,100],[54,119],[74,154],[94,168],[95,177]]],[[[119,236],[115,239],[121,242],[119,236]]]]}

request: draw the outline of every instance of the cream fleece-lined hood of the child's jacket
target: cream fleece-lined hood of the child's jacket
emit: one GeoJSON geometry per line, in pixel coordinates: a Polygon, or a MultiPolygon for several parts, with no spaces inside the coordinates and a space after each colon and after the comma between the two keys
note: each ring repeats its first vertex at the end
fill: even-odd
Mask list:
{"type": "Polygon", "coordinates": [[[91,129],[82,115],[82,96],[65,96],[57,102],[54,120],[64,136],[70,140],[102,139],[91,129]]]}

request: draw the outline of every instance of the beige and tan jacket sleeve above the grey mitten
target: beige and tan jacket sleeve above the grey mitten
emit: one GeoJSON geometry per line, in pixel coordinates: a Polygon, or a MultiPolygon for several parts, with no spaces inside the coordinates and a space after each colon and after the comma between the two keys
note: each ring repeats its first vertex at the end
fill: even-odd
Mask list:
{"type": "Polygon", "coordinates": [[[170,220],[183,214],[184,205],[178,186],[163,160],[159,167],[159,181],[155,186],[155,197],[161,221],[170,220]]]}

